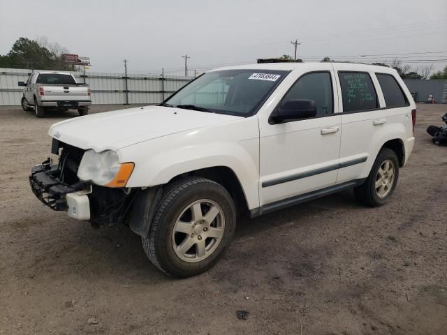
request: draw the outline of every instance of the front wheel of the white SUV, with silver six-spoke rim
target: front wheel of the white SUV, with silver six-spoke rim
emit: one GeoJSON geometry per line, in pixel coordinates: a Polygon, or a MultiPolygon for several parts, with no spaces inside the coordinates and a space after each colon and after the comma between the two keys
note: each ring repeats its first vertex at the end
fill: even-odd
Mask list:
{"type": "Polygon", "coordinates": [[[235,205],[228,191],[209,179],[189,177],[163,191],[142,246],[161,271],[186,278],[216,264],[235,227],[235,205]]]}

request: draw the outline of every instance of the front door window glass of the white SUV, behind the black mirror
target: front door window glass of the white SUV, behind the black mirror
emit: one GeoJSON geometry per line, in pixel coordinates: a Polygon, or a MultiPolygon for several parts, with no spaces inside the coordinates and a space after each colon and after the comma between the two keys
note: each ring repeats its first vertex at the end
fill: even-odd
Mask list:
{"type": "Polygon", "coordinates": [[[281,105],[296,99],[315,101],[317,117],[332,114],[334,99],[330,73],[316,72],[303,75],[282,98],[281,105]]]}

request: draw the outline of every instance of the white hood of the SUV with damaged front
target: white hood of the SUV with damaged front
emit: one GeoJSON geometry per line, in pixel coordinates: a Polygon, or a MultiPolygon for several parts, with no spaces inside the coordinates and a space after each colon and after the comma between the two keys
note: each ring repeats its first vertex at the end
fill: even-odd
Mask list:
{"type": "Polygon", "coordinates": [[[76,117],[53,124],[48,134],[81,149],[117,151],[157,137],[241,119],[232,115],[147,106],[76,117]]]}

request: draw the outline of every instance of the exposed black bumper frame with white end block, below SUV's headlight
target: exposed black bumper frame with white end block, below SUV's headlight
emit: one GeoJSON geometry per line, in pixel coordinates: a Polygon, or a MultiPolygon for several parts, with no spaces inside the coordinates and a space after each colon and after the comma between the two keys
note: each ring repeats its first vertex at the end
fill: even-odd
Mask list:
{"type": "Polygon", "coordinates": [[[70,217],[89,220],[87,195],[91,193],[91,184],[78,181],[69,185],[60,181],[60,175],[59,165],[53,164],[50,158],[32,168],[29,184],[34,195],[54,211],[67,211],[70,217]]]}

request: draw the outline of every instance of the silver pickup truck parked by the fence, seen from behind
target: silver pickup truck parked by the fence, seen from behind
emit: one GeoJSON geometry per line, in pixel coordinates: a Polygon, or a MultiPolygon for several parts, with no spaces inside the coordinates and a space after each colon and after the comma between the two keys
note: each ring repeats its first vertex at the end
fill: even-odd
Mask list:
{"type": "Polygon", "coordinates": [[[32,110],[36,117],[43,117],[45,109],[77,109],[80,115],[89,114],[91,105],[88,84],[76,82],[71,73],[34,72],[23,86],[21,105],[23,110],[32,110]]]}

